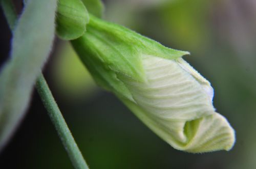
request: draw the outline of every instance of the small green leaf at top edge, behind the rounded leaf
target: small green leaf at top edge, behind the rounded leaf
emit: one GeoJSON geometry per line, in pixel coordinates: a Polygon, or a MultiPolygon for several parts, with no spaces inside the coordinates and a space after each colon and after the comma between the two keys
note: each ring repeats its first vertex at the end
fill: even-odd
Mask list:
{"type": "Polygon", "coordinates": [[[104,5],[101,0],[82,0],[82,2],[91,14],[102,17],[104,5]]]}

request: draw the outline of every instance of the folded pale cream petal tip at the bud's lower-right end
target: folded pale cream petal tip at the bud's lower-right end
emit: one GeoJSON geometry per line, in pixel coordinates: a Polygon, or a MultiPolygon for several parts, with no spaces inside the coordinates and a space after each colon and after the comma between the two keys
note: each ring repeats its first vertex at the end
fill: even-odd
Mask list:
{"type": "Polygon", "coordinates": [[[190,128],[191,132],[195,132],[195,135],[190,138],[186,146],[181,147],[181,150],[196,153],[217,150],[228,151],[233,147],[235,142],[234,130],[226,118],[217,112],[188,123],[190,124],[187,124],[187,130],[190,128]],[[197,125],[196,131],[194,131],[195,126],[193,125],[197,125]]]}

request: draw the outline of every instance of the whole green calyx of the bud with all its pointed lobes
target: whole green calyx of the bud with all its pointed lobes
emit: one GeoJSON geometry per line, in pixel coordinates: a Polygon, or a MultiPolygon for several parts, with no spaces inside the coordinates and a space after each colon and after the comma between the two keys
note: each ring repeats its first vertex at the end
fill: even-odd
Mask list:
{"type": "Polygon", "coordinates": [[[100,86],[132,101],[130,91],[118,77],[146,81],[143,55],[177,59],[188,53],[164,47],[154,40],[93,15],[90,15],[87,32],[73,40],[72,44],[100,86]]]}

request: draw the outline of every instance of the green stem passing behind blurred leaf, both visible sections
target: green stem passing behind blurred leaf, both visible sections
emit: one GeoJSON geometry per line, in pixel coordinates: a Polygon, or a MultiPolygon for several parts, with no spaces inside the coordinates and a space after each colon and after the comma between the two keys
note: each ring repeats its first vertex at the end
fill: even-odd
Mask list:
{"type": "MultiPolygon", "coordinates": [[[[13,31],[17,20],[17,14],[14,5],[11,0],[0,1],[9,27],[13,31]]],[[[63,118],[58,108],[57,103],[52,96],[52,93],[42,73],[40,73],[39,77],[37,78],[35,86],[73,166],[79,169],[89,168],[69,130],[68,125],[65,122],[65,119],[63,118]]]]}

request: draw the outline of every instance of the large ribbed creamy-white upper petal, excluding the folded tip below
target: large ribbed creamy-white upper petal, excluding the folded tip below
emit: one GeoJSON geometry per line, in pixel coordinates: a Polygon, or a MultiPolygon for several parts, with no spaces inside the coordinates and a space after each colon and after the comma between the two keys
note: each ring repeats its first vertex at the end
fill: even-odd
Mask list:
{"type": "Polygon", "coordinates": [[[147,82],[121,77],[148,113],[170,120],[194,120],[214,112],[203,86],[175,60],[142,57],[147,82]]]}

